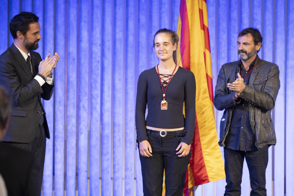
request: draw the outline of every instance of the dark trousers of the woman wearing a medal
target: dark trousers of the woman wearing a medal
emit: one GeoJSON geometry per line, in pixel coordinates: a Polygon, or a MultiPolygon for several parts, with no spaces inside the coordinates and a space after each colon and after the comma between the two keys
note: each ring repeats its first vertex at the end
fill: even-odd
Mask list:
{"type": "MultiPolygon", "coordinates": [[[[148,142],[152,148],[152,157],[140,153],[144,196],[161,196],[163,172],[165,170],[166,196],[183,196],[185,175],[191,152],[178,157],[175,150],[183,136],[161,137],[148,133],[148,142]]],[[[139,145],[138,145],[139,146],[139,145]]]]}

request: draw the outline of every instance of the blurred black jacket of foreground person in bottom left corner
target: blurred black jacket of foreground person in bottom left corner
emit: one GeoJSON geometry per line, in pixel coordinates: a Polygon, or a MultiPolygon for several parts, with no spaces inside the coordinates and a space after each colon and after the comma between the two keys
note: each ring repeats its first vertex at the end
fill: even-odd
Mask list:
{"type": "Polygon", "coordinates": [[[40,196],[35,188],[38,173],[33,154],[0,142],[0,174],[8,196],[40,196]]]}

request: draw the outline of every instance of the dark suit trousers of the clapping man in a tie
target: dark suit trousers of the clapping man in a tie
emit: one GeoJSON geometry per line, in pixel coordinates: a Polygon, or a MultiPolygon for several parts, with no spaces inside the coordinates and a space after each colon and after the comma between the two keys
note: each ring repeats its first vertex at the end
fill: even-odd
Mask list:
{"type": "MultiPolygon", "coordinates": [[[[36,192],[41,194],[42,189],[42,180],[43,180],[43,170],[44,170],[44,162],[45,162],[45,153],[46,153],[46,134],[44,130],[44,125],[39,125],[40,135],[34,137],[33,142],[31,143],[16,143],[16,142],[5,142],[12,147],[17,147],[24,149],[26,151],[32,152],[35,155],[35,160],[39,174],[38,184],[36,185],[36,192]],[[37,191],[38,190],[38,191],[37,191]]],[[[40,196],[40,194],[38,194],[40,196]]]]}

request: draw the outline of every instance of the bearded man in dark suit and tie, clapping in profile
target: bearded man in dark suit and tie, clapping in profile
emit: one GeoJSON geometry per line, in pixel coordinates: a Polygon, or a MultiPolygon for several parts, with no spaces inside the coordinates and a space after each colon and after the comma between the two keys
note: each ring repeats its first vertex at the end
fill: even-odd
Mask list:
{"type": "Polygon", "coordinates": [[[21,12],[10,21],[14,43],[0,55],[0,85],[12,98],[10,123],[3,142],[33,152],[41,169],[36,189],[41,192],[49,128],[41,98],[49,100],[53,94],[51,70],[56,67],[59,56],[46,56],[44,60],[38,49],[41,39],[39,18],[29,12],[21,12]]]}

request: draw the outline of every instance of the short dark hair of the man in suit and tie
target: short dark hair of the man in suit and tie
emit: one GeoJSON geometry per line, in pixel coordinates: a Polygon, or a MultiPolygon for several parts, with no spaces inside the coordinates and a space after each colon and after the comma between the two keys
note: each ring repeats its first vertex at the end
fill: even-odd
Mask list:
{"type": "Polygon", "coordinates": [[[38,23],[39,17],[31,12],[21,12],[15,15],[10,21],[10,33],[13,39],[17,38],[17,31],[21,31],[24,35],[29,30],[29,25],[38,23]]]}

